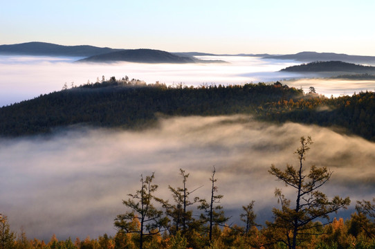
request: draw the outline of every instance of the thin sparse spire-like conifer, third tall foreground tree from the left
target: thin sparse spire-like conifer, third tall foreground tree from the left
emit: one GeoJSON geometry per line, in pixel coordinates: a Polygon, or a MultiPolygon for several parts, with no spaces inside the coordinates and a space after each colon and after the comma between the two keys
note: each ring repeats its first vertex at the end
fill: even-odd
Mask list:
{"type": "Polygon", "coordinates": [[[210,203],[203,199],[200,200],[201,205],[199,205],[198,207],[200,210],[204,211],[201,214],[201,220],[205,223],[208,222],[208,234],[210,242],[212,242],[212,228],[214,227],[214,225],[225,225],[226,221],[229,220],[229,218],[227,218],[224,215],[223,206],[217,205],[217,203],[220,203],[220,200],[223,198],[223,195],[215,194],[217,192],[217,186],[215,186],[217,179],[214,178],[215,173],[216,169],[214,167],[214,170],[212,171],[212,176],[210,178],[210,181],[212,183],[210,203]]]}

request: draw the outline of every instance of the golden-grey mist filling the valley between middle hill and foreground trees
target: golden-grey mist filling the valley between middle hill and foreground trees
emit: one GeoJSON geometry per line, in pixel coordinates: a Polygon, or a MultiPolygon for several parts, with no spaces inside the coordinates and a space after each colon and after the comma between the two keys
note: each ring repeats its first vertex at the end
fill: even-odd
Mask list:
{"type": "Polygon", "coordinates": [[[155,172],[156,194],[172,201],[167,186],[181,186],[179,169],[185,169],[188,189],[203,185],[194,194],[208,199],[214,166],[231,221],[241,225],[241,206],[255,200],[262,223],[271,220],[277,206],[275,187],[293,193],[268,169],[272,163],[298,164],[293,152],[300,136],[314,142],[304,165],[333,171],[323,192],[350,196],[350,212],[355,200],[374,197],[373,142],[251,116],[185,117],[163,118],[157,128],[143,131],[75,127],[52,136],[0,140],[0,212],[8,215],[13,230],[23,226],[30,238],[114,234],[113,219],[125,211],[122,199],[138,190],[140,174],[155,172]]]}

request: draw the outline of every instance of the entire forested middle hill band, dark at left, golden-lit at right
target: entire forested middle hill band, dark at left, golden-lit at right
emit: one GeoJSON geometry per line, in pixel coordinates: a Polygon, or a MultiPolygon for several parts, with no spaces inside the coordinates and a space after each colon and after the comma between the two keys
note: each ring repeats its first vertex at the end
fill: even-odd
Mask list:
{"type": "Polygon", "coordinates": [[[65,89],[0,109],[0,136],[49,133],[80,124],[142,129],[158,116],[251,114],[271,122],[334,127],[375,140],[375,95],[325,98],[275,84],[165,86],[139,80],[104,80],[65,89]]]}

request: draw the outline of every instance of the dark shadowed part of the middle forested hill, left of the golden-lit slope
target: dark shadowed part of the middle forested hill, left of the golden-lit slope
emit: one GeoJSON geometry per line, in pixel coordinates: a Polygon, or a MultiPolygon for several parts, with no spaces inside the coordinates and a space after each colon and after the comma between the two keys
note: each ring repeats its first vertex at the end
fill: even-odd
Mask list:
{"type": "Polygon", "coordinates": [[[145,85],[137,80],[102,83],[66,89],[0,109],[1,136],[53,131],[85,124],[95,127],[139,128],[165,115],[221,115],[251,113],[262,102],[298,98],[302,91],[266,84],[199,88],[145,85]]]}

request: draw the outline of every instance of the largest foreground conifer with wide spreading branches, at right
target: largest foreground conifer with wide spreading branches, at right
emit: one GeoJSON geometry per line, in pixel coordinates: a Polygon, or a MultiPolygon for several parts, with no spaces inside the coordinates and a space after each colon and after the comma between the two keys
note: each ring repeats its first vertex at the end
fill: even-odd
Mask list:
{"type": "Polygon", "coordinates": [[[299,167],[286,165],[286,169],[278,169],[271,166],[269,173],[276,176],[278,181],[285,183],[296,190],[295,208],[291,208],[291,201],[286,199],[280,189],[275,190],[275,196],[281,203],[282,209],[273,208],[274,223],[268,223],[270,228],[281,231],[284,235],[276,237],[278,241],[285,243],[291,249],[311,235],[311,230],[321,226],[322,223],[313,223],[315,219],[325,219],[330,222],[329,214],[337,212],[341,208],[346,209],[350,204],[349,197],[342,199],[333,197],[331,201],[318,189],[329,181],[332,172],[327,167],[310,167],[309,173],[304,171],[303,161],[313,142],[311,137],[300,138],[300,147],[295,151],[298,156],[299,167]]]}

